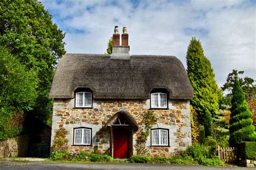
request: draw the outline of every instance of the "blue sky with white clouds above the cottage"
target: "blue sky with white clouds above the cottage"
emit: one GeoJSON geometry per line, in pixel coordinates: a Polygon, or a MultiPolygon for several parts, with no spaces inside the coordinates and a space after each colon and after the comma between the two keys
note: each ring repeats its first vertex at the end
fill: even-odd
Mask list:
{"type": "Polygon", "coordinates": [[[187,46],[200,40],[219,87],[232,69],[256,79],[256,0],[42,0],[67,53],[106,53],[119,26],[127,27],[130,54],[174,55],[186,68],[187,46]]]}

